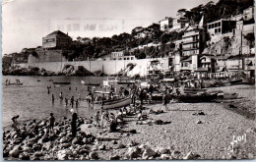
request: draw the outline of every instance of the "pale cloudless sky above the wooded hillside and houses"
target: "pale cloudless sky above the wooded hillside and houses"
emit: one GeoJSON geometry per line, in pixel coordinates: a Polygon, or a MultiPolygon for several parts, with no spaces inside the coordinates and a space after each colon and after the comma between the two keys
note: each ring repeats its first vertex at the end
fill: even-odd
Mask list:
{"type": "MultiPolygon", "coordinates": [[[[2,54],[41,46],[41,38],[62,30],[73,39],[130,33],[179,9],[191,9],[210,0],[3,0],[2,54]]],[[[218,2],[219,0],[213,0],[218,2]]]]}

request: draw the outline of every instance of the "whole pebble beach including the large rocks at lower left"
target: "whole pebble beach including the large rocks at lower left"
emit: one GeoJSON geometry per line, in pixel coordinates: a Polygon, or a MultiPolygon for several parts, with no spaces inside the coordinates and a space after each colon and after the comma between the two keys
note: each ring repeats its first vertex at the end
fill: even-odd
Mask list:
{"type": "MultiPolygon", "coordinates": [[[[45,121],[39,121],[39,134],[6,131],[3,152],[6,160],[125,160],[125,159],[252,159],[256,154],[255,91],[252,85],[209,88],[238,92],[238,99],[210,103],[145,104],[137,115],[124,118],[118,132],[109,133],[79,117],[75,138],[70,119],[56,122],[54,135],[47,135],[45,121]],[[240,89],[240,90],[239,90],[240,89]],[[234,105],[230,108],[228,105],[234,105]],[[246,108],[246,109],[245,109],[246,108]],[[149,110],[162,110],[149,114],[149,110]],[[202,113],[203,112],[203,113],[202,113]],[[244,113],[245,112],[245,113],[244,113]],[[161,121],[163,123],[157,123],[161,121]],[[26,136],[24,136],[26,135],[26,136]],[[233,146],[230,142],[238,136],[233,146]],[[245,140],[244,140],[245,138],[245,140]],[[240,139],[240,138],[239,138],[240,139]]],[[[30,122],[27,122],[30,126],[30,122]]]]}

